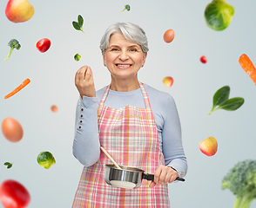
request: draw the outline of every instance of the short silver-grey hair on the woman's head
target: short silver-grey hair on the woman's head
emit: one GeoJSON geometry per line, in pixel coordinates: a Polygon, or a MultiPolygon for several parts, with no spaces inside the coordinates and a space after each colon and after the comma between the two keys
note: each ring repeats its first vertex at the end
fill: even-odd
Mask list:
{"type": "Polygon", "coordinates": [[[125,36],[125,39],[129,42],[134,42],[140,45],[143,53],[149,50],[147,37],[145,31],[137,24],[133,23],[114,23],[108,29],[105,30],[104,36],[101,38],[99,48],[105,52],[109,47],[111,35],[115,33],[121,33],[125,36]]]}

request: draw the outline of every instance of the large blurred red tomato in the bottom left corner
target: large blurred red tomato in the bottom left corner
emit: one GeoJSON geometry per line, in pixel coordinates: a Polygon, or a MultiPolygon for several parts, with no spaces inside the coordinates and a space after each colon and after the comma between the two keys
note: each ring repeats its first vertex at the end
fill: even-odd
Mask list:
{"type": "Polygon", "coordinates": [[[30,193],[24,185],[8,179],[0,185],[0,200],[4,208],[25,208],[30,204],[30,193]]]}

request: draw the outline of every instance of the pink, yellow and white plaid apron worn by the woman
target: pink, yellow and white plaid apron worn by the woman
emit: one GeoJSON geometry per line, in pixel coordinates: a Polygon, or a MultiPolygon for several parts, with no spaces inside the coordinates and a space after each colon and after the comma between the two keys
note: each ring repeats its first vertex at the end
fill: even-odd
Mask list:
{"type": "MultiPolygon", "coordinates": [[[[154,173],[165,165],[158,145],[158,131],[145,88],[140,83],[145,108],[127,106],[122,110],[105,107],[108,86],[98,107],[100,145],[122,166],[138,167],[145,173],[154,173]]],[[[73,208],[97,207],[170,207],[167,185],[149,188],[150,181],[143,180],[137,189],[124,189],[104,181],[104,165],[111,164],[101,152],[98,162],[83,169],[73,202],[73,208]]]]}

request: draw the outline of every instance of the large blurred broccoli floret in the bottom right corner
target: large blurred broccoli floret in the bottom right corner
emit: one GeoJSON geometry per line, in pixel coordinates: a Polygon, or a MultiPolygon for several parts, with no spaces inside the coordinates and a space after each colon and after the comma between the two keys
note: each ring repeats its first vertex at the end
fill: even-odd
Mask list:
{"type": "Polygon", "coordinates": [[[249,208],[256,198],[256,160],[246,159],[222,179],[222,189],[229,188],[235,195],[233,208],[249,208]]]}

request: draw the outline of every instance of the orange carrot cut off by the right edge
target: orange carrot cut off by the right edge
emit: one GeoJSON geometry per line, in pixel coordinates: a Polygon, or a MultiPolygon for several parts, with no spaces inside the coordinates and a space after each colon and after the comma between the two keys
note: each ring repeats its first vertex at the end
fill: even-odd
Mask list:
{"type": "Polygon", "coordinates": [[[250,58],[246,54],[241,55],[239,57],[239,64],[256,85],[256,68],[253,66],[253,62],[250,58]]]}

